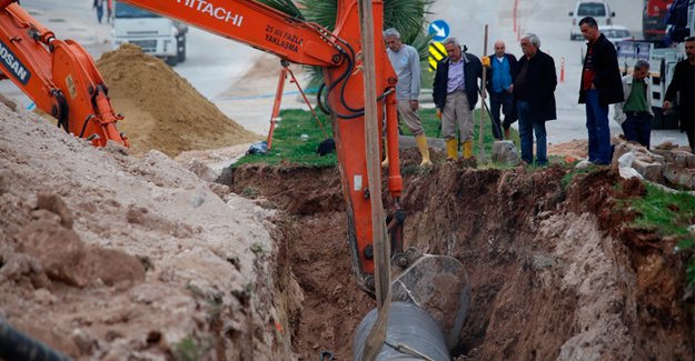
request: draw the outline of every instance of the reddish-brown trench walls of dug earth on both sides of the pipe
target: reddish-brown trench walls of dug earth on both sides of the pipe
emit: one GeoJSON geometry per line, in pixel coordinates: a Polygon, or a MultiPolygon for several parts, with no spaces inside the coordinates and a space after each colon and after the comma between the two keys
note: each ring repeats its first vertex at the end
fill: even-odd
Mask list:
{"type": "MultiPolygon", "coordinates": [[[[563,187],[566,173],[446,163],[405,176],[406,243],[457,258],[471,284],[453,358],[693,360],[685,255],[674,240],[626,227],[634,214],[616,207],[644,188],[609,170],[563,187]]],[[[353,332],[375,302],[351,271],[338,171],[244,166],[221,181],[284,211],[278,287],[294,351],[351,359],[353,332]]]]}

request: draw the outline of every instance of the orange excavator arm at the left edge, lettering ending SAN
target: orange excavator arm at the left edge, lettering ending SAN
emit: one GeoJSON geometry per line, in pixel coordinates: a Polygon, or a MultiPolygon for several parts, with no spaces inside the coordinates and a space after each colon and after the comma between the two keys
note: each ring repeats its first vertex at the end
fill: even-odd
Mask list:
{"type": "Polygon", "coordinates": [[[95,146],[113,140],[128,147],[91,57],[78,43],[57,39],[16,0],[0,1],[0,78],[10,79],[67,132],[95,146]]]}

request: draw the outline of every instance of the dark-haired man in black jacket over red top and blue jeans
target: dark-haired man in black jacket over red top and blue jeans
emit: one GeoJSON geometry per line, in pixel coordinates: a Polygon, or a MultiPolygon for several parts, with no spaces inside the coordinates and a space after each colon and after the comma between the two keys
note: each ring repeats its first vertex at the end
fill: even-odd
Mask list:
{"type": "Polygon", "coordinates": [[[623,81],[613,43],[598,31],[592,17],[579,21],[582,34],[588,41],[579,83],[579,103],[586,103],[589,162],[609,164],[610,129],[608,106],[623,102],[623,81]]]}

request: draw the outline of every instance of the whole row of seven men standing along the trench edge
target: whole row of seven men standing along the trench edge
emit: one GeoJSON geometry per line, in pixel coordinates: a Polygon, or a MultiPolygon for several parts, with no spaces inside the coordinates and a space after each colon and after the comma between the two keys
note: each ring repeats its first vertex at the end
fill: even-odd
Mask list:
{"type": "MultiPolygon", "coordinates": [[[[596,20],[586,17],[579,28],[587,40],[579,87],[579,103],[586,106],[588,132],[588,161],[609,164],[612,161],[608,107],[615,104],[615,120],[620,123],[629,141],[649,147],[653,118],[646,81],[649,63],[637,61],[633,74],[620,77],[615,47],[598,30],[596,20]]],[[[421,166],[431,164],[427,138],[418,117],[420,66],[417,51],[400,40],[396,29],[384,32],[389,60],[398,76],[396,94],[398,113],[416,136],[423,157],[421,166]]],[[[493,136],[496,140],[509,139],[509,127],[519,121],[522,160],[527,164],[545,166],[547,138],[545,122],[557,119],[555,89],[557,76],[555,61],[540,50],[540,39],[527,33],[520,39],[523,57],[516,59],[506,52],[505,43],[495,43],[495,53],[477,57],[461,49],[455,38],[444,42],[448,57],[437,63],[433,98],[441,120],[441,133],[448,160],[458,159],[458,129],[464,159],[473,157],[473,109],[478,101],[478,78],[487,72],[486,88],[490,97],[493,136]],[[500,110],[505,116],[500,120],[500,110]],[[534,158],[534,136],[536,157],[534,158]],[[503,138],[504,137],[504,138],[503,138]]],[[[676,66],[674,81],[665,97],[664,109],[671,108],[679,94],[681,130],[687,132],[691,149],[695,151],[695,38],[686,39],[686,56],[676,66]]],[[[388,160],[383,163],[388,166],[388,160]]]]}

